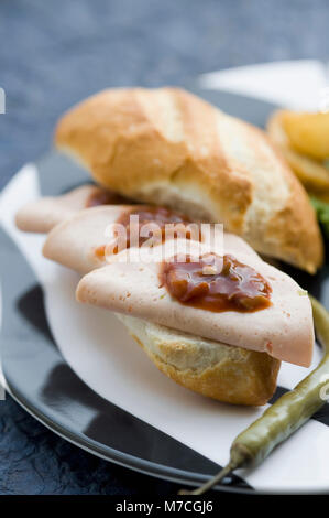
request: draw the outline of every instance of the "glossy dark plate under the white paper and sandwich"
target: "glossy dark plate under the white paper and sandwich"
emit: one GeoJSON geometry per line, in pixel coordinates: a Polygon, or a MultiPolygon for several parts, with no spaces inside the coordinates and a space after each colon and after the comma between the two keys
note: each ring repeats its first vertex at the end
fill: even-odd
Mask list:
{"type": "MultiPolygon", "coordinates": [[[[222,91],[197,93],[224,111],[261,127],[275,108],[222,91]]],[[[43,194],[59,194],[90,181],[85,171],[56,153],[40,160],[37,168],[43,194]]],[[[75,375],[52,337],[42,289],[33,271],[1,228],[0,250],[0,268],[6,273],[2,274],[2,361],[15,400],[57,434],[106,460],[182,484],[196,485],[215,474],[218,465],[102,399],[75,375]]],[[[328,304],[327,266],[312,278],[292,268],[288,271],[328,304]]],[[[273,400],[284,390],[278,387],[273,400]]],[[[318,412],[314,419],[329,424],[328,410],[318,412]]],[[[226,490],[253,490],[238,476],[226,482],[226,490]]]]}

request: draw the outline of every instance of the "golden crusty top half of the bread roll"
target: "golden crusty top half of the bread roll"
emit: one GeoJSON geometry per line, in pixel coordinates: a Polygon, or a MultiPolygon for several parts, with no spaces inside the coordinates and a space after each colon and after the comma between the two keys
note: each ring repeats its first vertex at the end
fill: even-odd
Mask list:
{"type": "Polygon", "coordinates": [[[222,222],[308,272],[322,262],[314,209],[265,133],[187,91],[105,90],[61,119],[55,143],[121,195],[222,222]]]}

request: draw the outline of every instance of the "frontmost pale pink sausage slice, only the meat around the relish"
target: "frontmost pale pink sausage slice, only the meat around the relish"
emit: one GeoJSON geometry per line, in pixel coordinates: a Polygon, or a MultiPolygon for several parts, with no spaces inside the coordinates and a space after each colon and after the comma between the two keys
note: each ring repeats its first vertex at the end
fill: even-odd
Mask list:
{"type": "MultiPolygon", "coordinates": [[[[136,316],[208,339],[246,349],[266,352],[293,364],[309,366],[314,346],[311,306],[307,293],[287,274],[245,253],[241,239],[230,236],[224,253],[254,268],[272,287],[272,305],[254,313],[210,311],[183,305],[174,300],[158,279],[164,246],[154,249],[151,262],[124,262],[129,250],[113,262],[88,273],[77,288],[77,299],[100,307],[136,316]]],[[[243,242],[243,241],[242,241],[243,242]]],[[[183,241],[176,241],[179,247],[183,241]]],[[[197,246],[190,242],[190,246],[197,246]]],[[[171,247],[169,247],[171,248],[171,247]]],[[[216,250],[215,250],[216,251],[216,250]]],[[[166,258],[172,257],[169,249],[166,258]]]]}

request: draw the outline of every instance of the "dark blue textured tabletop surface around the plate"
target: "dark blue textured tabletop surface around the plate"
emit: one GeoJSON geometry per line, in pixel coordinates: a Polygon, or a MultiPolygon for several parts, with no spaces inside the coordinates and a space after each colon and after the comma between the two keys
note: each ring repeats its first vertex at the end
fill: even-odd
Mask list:
{"type": "MultiPolygon", "coordinates": [[[[329,56],[327,0],[1,0],[0,188],[45,153],[64,109],[107,86],[184,84],[221,67],[329,56]]],[[[167,495],[0,401],[0,494],[167,495]]]]}

